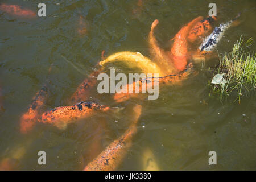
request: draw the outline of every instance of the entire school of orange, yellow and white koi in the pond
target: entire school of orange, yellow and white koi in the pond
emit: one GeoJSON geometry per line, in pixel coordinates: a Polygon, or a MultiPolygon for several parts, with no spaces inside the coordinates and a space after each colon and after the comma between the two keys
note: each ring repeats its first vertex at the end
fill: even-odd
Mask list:
{"type": "MultiPolygon", "coordinates": [[[[142,0],[138,1],[138,8],[133,10],[133,14],[141,13],[142,11],[142,0]]],[[[23,9],[18,5],[6,5],[1,4],[0,10],[7,14],[20,16],[22,18],[35,18],[36,13],[34,11],[23,9]]],[[[97,64],[97,69],[90,74],[88,78],[78,86],[75,93],[71,96],[69,102],[70,106],[61,106],[54,109],[43,111],[43,106],[47,100],[47,84],[42,86],[42,89],[35,94],[32,98],[31,104],[28,106],[27,111],[20,117],[20,133],[29,133],[36,123],[42,122],[49,125],[56,126],[58,129],[64,130],[67,128],[69,123],[77,122],[92,116],[93,114],[100,112],[108,112],[113,108],[107,105],[101,105],[93,101],[89,101],[89,91],[97,84],[97,75],[104,71],[104,68],[109,63],[121,62],[129,68],[139,68],[143,73],[159,73],[159,77],[145,78],[144,80],[139,80],[138,83],[133,83],[133,88],[135,84],[139,84],[141,89],[147,84],[155,84],[155,81],[159,84],[179,84],[182,80],[186,79],[191,69],[193,68],[193,63],[191,60],[192,55],[201,54],[202,51],[210,52],[216,47],[217,43],[220,41],[225,30],[231,26],[231,24],[236,20],[240,14],[233,20],[229,22],[220,24],[219,27],[213,28],[213,24],[217,22],[216,17],[209,16],[203,18],[199,16],[193,19],[191,22],[183,26],[179,32],[170,39],[172,46],[169,51],[164,51],[158,45],[158,42],[154,35],[154,30],[159,24],[159,20],[156,19],[151,24],[151,30],[148,35],[148,42],[151,48],[152,60],[146,56],[143,56],[139,52],[118,52],[114,53],[105,58],[104,51],[102,51],[102,61],[97,64]],[[212,31],[210,33],[210,31],[212,31]],[[209,35],[210,34],[210,35],[209,35]],[[204,38],[207,36],[206,38],[204,38]],[[203,42],[202,42],[203,41],[203,42]],[[191,43],[200,44],[196,52],[189,52],[189,46],[191,43]]],[[[78,23],[78,34],[84,35],[88,30],[85,18],[80,15],[78,23]]],[[[128,100],[131,97],[141,99],[141,95],[136,93],[122,93],[122,91],[129,88],[126,85],[122,88],[121,92],[115,93],[113,100],[116,103],[128,100]]],[[[1,89],[1,88],[0,88],[1,89]]],[[[141,91],[141,90],[140,90],[141,91]]],[[[1,90],[0,90],[1,94],[1,90]]],[[[0,95],[0,110],[3,109],[2,97],[0,95]]],[[[118,169],[119,164],[125,158],[127,151],[132,145],[133,136],[137,133],[137,123],[139,117],[141,116],[141,105],[135,105],[133,108],[133,117],[131,117],[131,124],[125,131],[123,135],[114,140],[109,144],[108,147],[103,151],[97,151],[97,156],[86,164],[84,170],[115,170],[118,169]]],[[[104,124],[102,124],[104,125],[104,124]]],[[[28,144],[31,142],[27,142],[28,144]]],[[[92,147],[93,150],[99,147],[92,147]]],[[[22,158],[22,154],[25,153],[26,149],[22,148],[17,151],[20,152],[11,154],[9,158],[2,159],[0,162],[0,170],[13,170],[16,166],[16,160],[22,158]]],[[[147,170],[158,170],[159,166],[155,163],[155,157],[152,151],[145,150],[143,152],[144,158],[144,169],[147,170]],[[154,159],[154,160],[153,160],[154,159]],[[149,163],[150,162],[150,163],[149,163]]]]}

